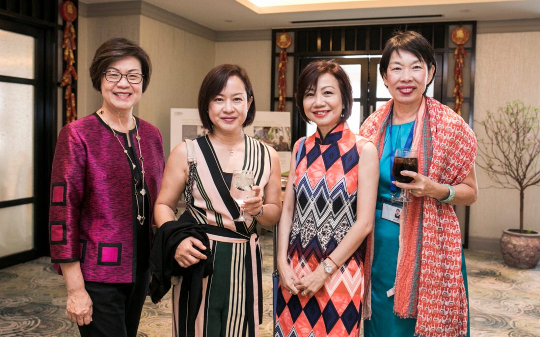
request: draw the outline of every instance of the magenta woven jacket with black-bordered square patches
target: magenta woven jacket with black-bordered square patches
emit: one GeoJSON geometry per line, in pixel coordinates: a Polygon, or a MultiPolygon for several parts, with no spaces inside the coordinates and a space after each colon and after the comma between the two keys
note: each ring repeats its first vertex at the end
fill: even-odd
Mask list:
{"type": "MultiPolygon", "coordinates": [[[[150,202],[145,216],[151,219],[151,236],[152,209],[165,166],[163,141],[149,122],[138,118],[136,122],[150,202]]],[[[118,139],[127,149],[127,136],[131,137],[140,156],[136,135],[133,129],[129,134],[118,133],[118,139]]],[[[140,165],[137,158],[133,162],[140,165]]],[[[132,171],[112,129],[96,113],[62,128],[52,163],[49,211],[51,262],[59,273],[59,263],[79,261],[86,281],[134,281],[134,231],[140,224],[132,171]]]]}

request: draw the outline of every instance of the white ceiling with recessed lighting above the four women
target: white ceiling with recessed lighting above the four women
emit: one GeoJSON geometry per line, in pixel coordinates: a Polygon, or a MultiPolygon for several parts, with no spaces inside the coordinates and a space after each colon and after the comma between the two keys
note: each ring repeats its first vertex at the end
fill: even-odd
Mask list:
{"type": "MultiPolygon", "coordinates": [[[[111,2],[111,0],[80,0],[87,4],[111,2]]],[[[129,1],[129,0],[114,0],[129,1]]],[[[540,18],[540,0],[416,0],[415,6],[393,5],[395,1],[371,0],[357,2],[363,8],[334,10],[305,10],[272,14],[258,14],[235,0],[144,0],[161,9],[189,19],[215,31],[260,30],[285,27],[361,25],[382,23],[507,20],[540,18]],[[440,3],[447,4],[440,4],[440,3]],[[460,4],[456,4],[461,2],[460,4]],[[448,4],[453,3],[453,4],[448,4]],[[379,6],[375,7],[377,4],[379,6]],[[381,5],[382,4],[382,5],[381,5]],[[389,17],[442,15],[434,18],[389,17]],[[379,18],[379,19],[377,19],[379,18]],[[383,18],[383,19],[382,19],[383,18]],[[343,19],[354,19],[346,20],[343,19]],[[304,20],[341,20],[322,23],[300,23],[304,20]]],[[[401,3],[408,3],[402,1],[401,3]]],[[[305,7],[304,7],[305,8],[305,7]]],[[[308,6],[313,9],[315,6],[308,6]]]]}

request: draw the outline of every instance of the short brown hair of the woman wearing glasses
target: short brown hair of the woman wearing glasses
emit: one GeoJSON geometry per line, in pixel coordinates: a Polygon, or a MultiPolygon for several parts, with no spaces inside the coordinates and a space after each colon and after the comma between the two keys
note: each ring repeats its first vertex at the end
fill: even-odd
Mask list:
{"type": "Polygon", "coordinates": [[[97,91],[101,91],[103,72],[114,62],[121,58],[133,56],[140,61],[143,72],[143,92],[150,84],[152,63],[150,56],[136,43],[125,38],[112,38],[99,46],[90,65],[90,78],[92,85],[97,91]]]}

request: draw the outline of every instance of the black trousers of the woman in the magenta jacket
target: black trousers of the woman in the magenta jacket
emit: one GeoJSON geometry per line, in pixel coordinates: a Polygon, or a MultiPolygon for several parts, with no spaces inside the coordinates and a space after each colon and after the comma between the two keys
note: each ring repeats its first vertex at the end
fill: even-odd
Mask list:
{"type": "Polygon", "coordinates": [[[92,322],[79,326],[81,337],[136,337],[150,283],[150,270],[138,272],[135,283],[84,282],[92,299],[92,322]]]}

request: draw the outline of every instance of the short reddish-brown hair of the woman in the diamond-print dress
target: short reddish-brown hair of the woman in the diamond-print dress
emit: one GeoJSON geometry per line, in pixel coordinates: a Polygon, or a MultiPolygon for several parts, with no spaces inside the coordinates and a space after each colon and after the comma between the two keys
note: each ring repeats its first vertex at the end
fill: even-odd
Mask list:
{"type": "Polygon", "coordinates": [[[339,122],[345,122],[353,109],[353,87],[350,85],[350,80],[345,70],[333,59],[313,61],[303,68],[300,73],[298,91],[296,92],[296,106],[298,106],[300,117],[306,122],[309,119],[303,109],[303,98],[308,91],[317,88],[319,76],[326,73],[334,75],[336,80],[338,80],[341,101],[343,103],[343,112],[339,122]]]}

